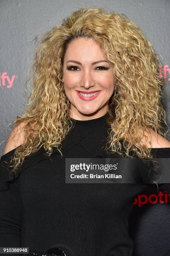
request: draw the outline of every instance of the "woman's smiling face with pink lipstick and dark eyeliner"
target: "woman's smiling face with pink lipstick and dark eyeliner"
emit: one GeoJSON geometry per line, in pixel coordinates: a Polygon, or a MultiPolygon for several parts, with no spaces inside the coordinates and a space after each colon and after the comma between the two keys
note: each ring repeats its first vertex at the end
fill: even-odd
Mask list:
{"type": "Polygon", "coordinates": [[[64,56],[63,80],[71,118],[89,120],[107,113],[114,91],[113,65],[92,38],[70,42],[64,56]]]}

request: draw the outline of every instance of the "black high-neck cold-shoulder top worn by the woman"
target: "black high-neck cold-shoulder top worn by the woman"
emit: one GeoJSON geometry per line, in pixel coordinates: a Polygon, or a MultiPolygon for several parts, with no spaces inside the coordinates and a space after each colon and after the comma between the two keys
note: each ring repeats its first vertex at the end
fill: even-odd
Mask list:
{"type": "MultiPolygon", "coordinates": [[[[55,148],[50,157],[40,148],[25,159],[18,177],[9,177],[4,162],[15,149],[1,157],[0,247],[25,246],[43,252],[59,247],[68,256],[132,255],[128,228],[134,198],[156,185],[65,183],[65,158],[108,157],[101,150],[110,128],[106,118],[107,114],[75,120],[62,143],[62,159],[55,148]]],[[[152,151],[158,158],[170,156],[170,148],[152,151]]],[[[170,184],[162,188],[170,192],[170,184]]]]}

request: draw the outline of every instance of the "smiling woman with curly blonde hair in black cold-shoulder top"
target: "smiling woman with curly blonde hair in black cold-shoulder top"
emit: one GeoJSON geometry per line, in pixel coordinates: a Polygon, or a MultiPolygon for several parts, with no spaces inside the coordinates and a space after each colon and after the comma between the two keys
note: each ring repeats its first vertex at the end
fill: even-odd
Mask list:
{"type": "Polygon", "coordinates": [[[32,105],[1,157],[1,247],[132,255],[128,220],[148,185],[66,183],[65,159],[169,157],[159,65],[136,24],[101,8],[80,8],[45,34],[32,105]]]}

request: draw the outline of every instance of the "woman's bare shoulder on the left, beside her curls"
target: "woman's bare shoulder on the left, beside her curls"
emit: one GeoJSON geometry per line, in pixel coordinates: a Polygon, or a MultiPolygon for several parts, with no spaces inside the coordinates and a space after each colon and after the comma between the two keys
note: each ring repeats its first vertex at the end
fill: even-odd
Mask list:
{"type": "Polygon", "coordinates": [[[5,145],[3,154],[8,153],[9,151],[24,143],[25,125],[26,123],[22,122],[13,128],[5,145]]]}

